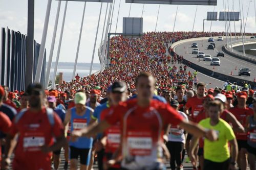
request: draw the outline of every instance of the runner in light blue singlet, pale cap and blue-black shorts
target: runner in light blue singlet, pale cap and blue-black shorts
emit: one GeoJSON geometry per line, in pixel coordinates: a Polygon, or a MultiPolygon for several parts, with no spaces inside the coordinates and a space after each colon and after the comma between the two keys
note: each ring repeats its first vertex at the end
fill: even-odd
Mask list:
{"type": "MultiPolygon", "coordinates": [[[[91,115],[93,114],[93,109],[85,106],[86,104],[86,93],[77,92],[75,94],[75,107],[69,109],[66,112],[66,117],[64,120],[64,126],[66,131],[68,129],[69,123],[71,123],[71,132],[75,130],[80,130],[88,126],[91,115]]],[[[80,169],[87,170],[90,158],[91,149],[93,144],[93,138],[81,137],[77,141],[70,141],[70,169],[77,169],[77,160],[80,157],[80,169]]]]}

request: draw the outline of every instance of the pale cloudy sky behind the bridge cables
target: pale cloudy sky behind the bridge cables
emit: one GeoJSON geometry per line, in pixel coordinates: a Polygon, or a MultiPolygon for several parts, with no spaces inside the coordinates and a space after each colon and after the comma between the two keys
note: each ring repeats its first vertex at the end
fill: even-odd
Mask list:
{"type": "MultiPolygon", "coordinates": [[[[115,8],[112,20],[111,32],[115,32],[117,25],[117,33],[122,32],[122,18],[129,16],[130,4],[126,4],[125,0],[114,0],[115,8]],[[118,7],[120,3],[120,13],[117,24],[118,7]]],[[[224,0],[218,0],[218,5],[215,6],[215,11],[223,11],[224,0]]],[[[244,19],[246,19],[247,11],[248,18],[246,22],[246,32],[255,33],[255,0],[242,0],[244,9],[244,19]],[[249,10],[248,10],[249,9],[249,10]]],[[[234,2],[234,11],[239,11],[239,0],[226,0],[226,10],[228,10],[227,2],[229,2],[229,10],[232,9],[234,2]]],[[[47,9],[47,0],[35,0],[35,21],[34,21],[34,39],[41,42],[42,30],[44,28],[44,21],[47,9]]],[[[53,53],[53,61],[56,59],[57,48],[59,44],[59,36],[62,25],[63,12],[65,8],[65,1],[61,2],[57,35],[55,40],[55,47],[53,53]]],[[[49,27],[46,38],[47,61],[49,58],[52,35],[54,30],[55,17],[57,12],[58,1],[52,0],[51,13],[49,19],[49,27]]],[[[60,48],[60,62],[74,62],[77,50],[77,43],[82,19],[84,2],[68,2],[67,15],[65,27],[63,30],[62,43],[60,48]]],[[[84,16],[83,30],[81,36],[80,50],[78,62],[91,62],[93,55],[93,47],[95,35],[97,30],[97,23],[99,18],[101,3],[88,2],[86,5],[86,13],[84,16]]],[[[106,3],[103,3],[102,12],[100,16],[100,25],[97,36],[96,51],[94,55],[94,63],[99,63],[98,47],[102,36],[103,23],[106,11],[106,3]]],[[[8,27],[11,30],[19,31],[27,34],[27,6],[28,0],[0,0],[0,27],[8,27]]],[[[143,32],[155,31],[157,13],[159,5],[146,4],[143,11],[143,32]]],[[[141,17],[143,4],[132,4],[130,17],[141,17]]],[[[242,7],[241,7],[242,8],[242,7]]],[[[177,5],[161,5],[159,12],[159,19],[156,31],[173,31],[174,20],[177,5]]],[[[242,10],[242,9],[241,9],[242,10]]],[[[192,31],[194,17],[196,14],[194,31],[202,31],[203,19],[207,16],[207,11],[214,11],[214,6],[198,6],[196,14],[196,6],[180,5],[176,19],[175,31],[192,31]]],[[[243,17],[243,15],[242,15],[243,17]]],[[[231,31],[234,31],[234,23],[230,22],[231,31]]],[[[205,21],[205,31],[210,30],[211,21],[205,21]]],[[[225,31],[224,21],[213,21],[211,31],[222,32],[225,31]]],[[[240,21],[236,22],[236,31],[240,32],[240,21]]]]}

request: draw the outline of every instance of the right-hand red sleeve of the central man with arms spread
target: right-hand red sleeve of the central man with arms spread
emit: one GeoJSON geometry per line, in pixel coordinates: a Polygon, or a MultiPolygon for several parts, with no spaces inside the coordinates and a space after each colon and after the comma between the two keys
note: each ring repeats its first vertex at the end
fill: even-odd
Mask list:
{"type": "Polygon", "coordinates": [[[179,125],[184,119],[175,109],[166,104],[166,109],[163,110],[164,120],[167,124],[174,126],[179,125]]]}

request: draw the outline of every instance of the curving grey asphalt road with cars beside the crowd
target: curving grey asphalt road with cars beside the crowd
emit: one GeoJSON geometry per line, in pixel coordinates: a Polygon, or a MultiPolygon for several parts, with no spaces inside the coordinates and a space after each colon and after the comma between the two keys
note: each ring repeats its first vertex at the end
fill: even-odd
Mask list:
{"type": "Polygon", "coordinates": [[[184,58],[191,63],[195,63],[197,65],[203,66],[209,70],[213,70],[215,72],[220,72],[225,75],[233,76],[242,80],[253,81],[256,77],[256,65],[250,62],[234,58],[225,53],[225,57],[220,57],[221,65],[220,66],[211,66],[210,61],[203,61],[203,58],[197,58],[196,54],[191,54],[193,48],[191,48],[191,43],[196,42],[198,44],[199,51],[204,52],[205,54],[210,54],[211,57],[216,57],[218,51],[222,51],[222,46],[225,44],[225,41],[217,41],[215,50],[207,50],[208,40],[200,40],[193,41],[180,44],[175,47],[175,52],[179,55],[183,55],[184,58]],[[251,76],[238,76],[238,70],[240,67],[248,67],[251,70],[251,76]],[[232,75],[231,75],[232,71],[232,75]]]}

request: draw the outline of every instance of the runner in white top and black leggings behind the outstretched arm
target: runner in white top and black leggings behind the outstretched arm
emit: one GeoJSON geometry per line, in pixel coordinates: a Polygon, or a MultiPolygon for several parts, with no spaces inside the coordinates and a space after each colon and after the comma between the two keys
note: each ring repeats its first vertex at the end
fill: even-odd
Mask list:
{"type": "MultiPolygon", "coordinates": [[[[184,112],[179,111],[178,101],[172,101],[170,106],[172,106],[184,118],[184,120],[188,122],[187,115],[184,112]]],[[[179,128],[179,126],[170,125],[168,129],[168,141],[166,146],[170,152],[170,168],[172,170],[180,170],[182,169],[182,152],[186,141],[186,132],[184,129],[179,128]],[[175,162],[177,163],[177,168],[175,162]]]]}

